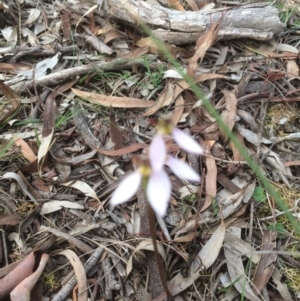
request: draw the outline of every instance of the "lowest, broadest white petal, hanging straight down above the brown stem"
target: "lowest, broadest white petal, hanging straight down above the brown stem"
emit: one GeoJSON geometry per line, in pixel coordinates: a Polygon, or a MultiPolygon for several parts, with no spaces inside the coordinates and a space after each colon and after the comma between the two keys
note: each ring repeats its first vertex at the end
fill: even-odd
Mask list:
{"type": "Polygon", "coordinates": [[[163,217],[171,197],[171,182],[164,170],[153,173],[149,178],[147,197],[156,214],[163,217]]]}

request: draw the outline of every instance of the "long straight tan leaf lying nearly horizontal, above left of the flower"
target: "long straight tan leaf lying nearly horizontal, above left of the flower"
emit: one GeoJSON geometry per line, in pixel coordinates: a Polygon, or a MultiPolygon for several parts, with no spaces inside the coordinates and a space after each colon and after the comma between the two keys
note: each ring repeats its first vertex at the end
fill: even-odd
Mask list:
{"type": "Polygon", "coordinates": [[[155,104],[152,100],[142,100],[132,97],[117,97],[106,96],[102,94],[84,92],[78,89],[72,89],[72,91],[79,97],[87,99],[93,103],[114,108],[149,108],[155,104]]]}

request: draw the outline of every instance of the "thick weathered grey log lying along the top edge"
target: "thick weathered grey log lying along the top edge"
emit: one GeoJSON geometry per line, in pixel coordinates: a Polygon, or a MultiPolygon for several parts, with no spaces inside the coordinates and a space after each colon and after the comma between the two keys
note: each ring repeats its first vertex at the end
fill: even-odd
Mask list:
{"type": "Polygon", "coordinates": [[[156,37],[170,44],[194,43],[211,23],[224,17],[218,39],[249,38],[267,41],[283,30],[278,10],[270,3],[252,3],[234,8],[209,11],[177,11],[165,8],[156,1],[104,0],[100,14],[136,28],[144,22],[156,37]],[[126,13],[125,13],[126,12],[126,13]],[[137,20],[138,19],[138,20],[137,20]]]}

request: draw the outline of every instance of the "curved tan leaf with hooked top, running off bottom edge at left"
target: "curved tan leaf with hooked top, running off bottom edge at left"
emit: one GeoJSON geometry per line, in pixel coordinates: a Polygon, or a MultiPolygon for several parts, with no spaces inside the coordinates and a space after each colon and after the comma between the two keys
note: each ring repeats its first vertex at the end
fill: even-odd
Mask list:
{"type": "Polygon", "coordinates": [[[88,288],[87,288],[87,279],[84,266],[78,256],[71,250],[61,251],[59,254],[66,256],[73,269],[77,280],[78,286],[78,301],[87,301],[88,300],[88,288]]]}

